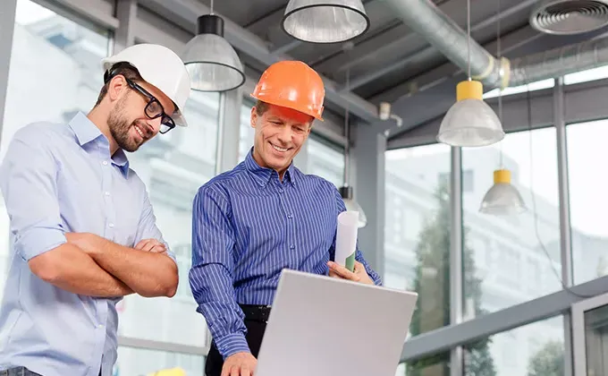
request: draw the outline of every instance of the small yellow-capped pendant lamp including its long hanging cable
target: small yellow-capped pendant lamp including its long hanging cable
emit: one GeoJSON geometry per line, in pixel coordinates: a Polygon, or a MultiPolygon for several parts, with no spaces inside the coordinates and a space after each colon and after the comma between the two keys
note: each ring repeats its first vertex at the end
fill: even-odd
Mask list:
{"type": "MultiPolygon", "coordinates": [[[[501,0],[498,0],[496,26],[496,56],[501,58],[501,0]]],[[[498,117],[502,123],[502,88],[498,91],[498,117]]],[[[519,214],[526,210],[517,188],[511,184],[511,171],[504,168],[502,159],[502,142],[499,150],[499,169],[494,171],[494,185],[486,192],[479,211],[494,215],[519,214]]]]}

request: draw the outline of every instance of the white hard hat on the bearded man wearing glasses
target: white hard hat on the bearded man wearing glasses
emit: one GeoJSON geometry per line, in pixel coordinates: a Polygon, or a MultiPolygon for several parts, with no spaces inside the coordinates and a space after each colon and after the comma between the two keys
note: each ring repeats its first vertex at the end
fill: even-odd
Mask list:
{"type": "Polygon", "coordinates": [[[167,115],[173,118],[175,124],[188,126],[182,112],[190,96],[190,75],[180,56],[167,47],[143,43],[124,48],[101,61],[105,72],[121,62],[133,65],[144,81],[171,98],[175,113],[167,115]]]}

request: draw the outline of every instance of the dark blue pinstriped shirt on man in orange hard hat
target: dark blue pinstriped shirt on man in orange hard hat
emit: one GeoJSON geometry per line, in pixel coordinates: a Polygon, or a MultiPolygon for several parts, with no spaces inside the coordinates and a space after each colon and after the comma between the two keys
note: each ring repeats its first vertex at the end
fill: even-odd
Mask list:
{"type": "MultiPolygon", "coordinates": [[[[190,287],[224,358],[249,351],[241,304],[270,305],[282,269],[327,275],[337,217],[334,184],[291,164],[283,181],[251,151],[200,187],[193,204],[190,287]]],[[[381,280],[359,249],[356,259],[381,280]]]]}

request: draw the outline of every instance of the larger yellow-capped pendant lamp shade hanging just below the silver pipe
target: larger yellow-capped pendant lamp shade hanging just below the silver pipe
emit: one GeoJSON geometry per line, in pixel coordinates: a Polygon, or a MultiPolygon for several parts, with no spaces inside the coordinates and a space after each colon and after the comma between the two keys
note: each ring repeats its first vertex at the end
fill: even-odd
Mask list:
{"type": "Polygon", "coordinates": [[[502,124],[483,98],[479,81],[461,81],[456,103],[448,110],[437,141],[456,147],[487,146],[504,138],[502,124]]]}

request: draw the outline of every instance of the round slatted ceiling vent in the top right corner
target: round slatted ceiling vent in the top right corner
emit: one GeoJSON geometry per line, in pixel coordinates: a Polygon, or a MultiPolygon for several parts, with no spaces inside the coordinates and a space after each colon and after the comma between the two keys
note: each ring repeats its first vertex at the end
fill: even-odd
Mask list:
{"type": "Polygon", "coordinates": [[[597,30],[608,25],[608,0],[538,0],[530,25],[555,35],[597,30]]]}

